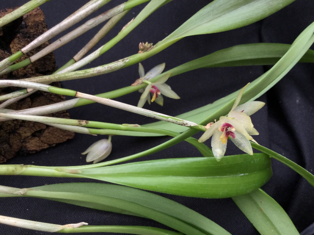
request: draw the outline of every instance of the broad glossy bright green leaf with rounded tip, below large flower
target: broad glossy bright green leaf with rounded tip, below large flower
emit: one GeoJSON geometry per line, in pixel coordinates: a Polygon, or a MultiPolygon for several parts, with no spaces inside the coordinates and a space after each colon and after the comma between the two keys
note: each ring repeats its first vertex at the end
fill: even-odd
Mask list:
{"type": "Polygon", "coordinates": [[[271,177],[266,154],[177,158],[82,169],[77,175],[139,189],[202,198],[251,192],[271,177]]]}

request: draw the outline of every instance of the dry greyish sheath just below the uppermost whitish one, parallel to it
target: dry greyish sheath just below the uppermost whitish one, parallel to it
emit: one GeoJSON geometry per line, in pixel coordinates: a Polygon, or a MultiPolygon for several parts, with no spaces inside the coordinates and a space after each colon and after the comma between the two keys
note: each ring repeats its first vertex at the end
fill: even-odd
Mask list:
{"type": "Polygon", "coordinates": [[[45,47],[40,52],[36,53],[35,55],[30,57],[30,61],[33,63],[34,61],[40,59],[41,57],[49,54],[50,52],[56,50],[57,48],[67,44],[68,42],[72,41],[73,39],[77,38],[78,36],[86,33],[88,30],[93,29],[98,24],[103,23],[107,19],[110,19],[111,17],[115,16],[118,13],[121,13],[123,11],[124,4],[121,4],[115,8],[112,8],[109,11],[106,11],[105,13],[100,14],[99,16],[90,19],[85,24],[79,26],[78,28],[74,29],[70,33],[64,35],[62,38],[56,40],[55,42],[51,43],[49,46],[45,47]]]}

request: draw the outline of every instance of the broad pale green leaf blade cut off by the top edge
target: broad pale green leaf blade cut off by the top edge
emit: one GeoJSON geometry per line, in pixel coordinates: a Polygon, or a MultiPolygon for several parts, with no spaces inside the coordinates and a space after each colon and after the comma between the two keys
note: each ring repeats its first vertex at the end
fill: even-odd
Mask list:
{"type": "Polygon", "coordinates": [[[191,35],[240,28],[266,18],[292,2],[294,0],[215,0],[199,10],[157,46],[191,35]]]}

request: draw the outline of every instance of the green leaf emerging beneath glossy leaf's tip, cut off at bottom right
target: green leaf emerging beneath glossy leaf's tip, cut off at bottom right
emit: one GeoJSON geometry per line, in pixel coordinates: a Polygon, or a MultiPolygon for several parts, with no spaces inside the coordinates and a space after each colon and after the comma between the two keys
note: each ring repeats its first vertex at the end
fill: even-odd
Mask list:
{"type": "Polygon", "coordinates": [[[261,235],[300,235],[284,209],[263,190],[232,200],[261,235]]]}

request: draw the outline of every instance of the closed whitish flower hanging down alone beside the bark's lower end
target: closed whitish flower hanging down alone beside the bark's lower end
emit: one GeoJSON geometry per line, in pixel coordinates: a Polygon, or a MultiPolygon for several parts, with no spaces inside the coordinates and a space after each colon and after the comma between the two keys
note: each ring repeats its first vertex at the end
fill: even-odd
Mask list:
{"type": "Polygon", "coordinates": [[[104,160],[109,156],[112,149],[111,136],[109,139],[101,139],[90,145],[82,154],[87,154],[86,162],[93,161],[93,164],[104,160]]]}

